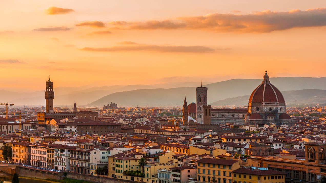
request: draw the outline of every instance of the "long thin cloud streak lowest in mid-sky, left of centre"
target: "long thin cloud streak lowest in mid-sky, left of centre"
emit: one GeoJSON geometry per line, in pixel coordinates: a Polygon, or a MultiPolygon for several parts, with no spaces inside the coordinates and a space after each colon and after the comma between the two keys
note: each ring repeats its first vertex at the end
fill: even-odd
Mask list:
{"type": "Polygon", "coordinates": [[[205,53],[214,52],[214,49],[205,46],[159,46],[159,45],[146,45],[137,44],[133,42],[124,42],[124,44],[129,44],[128,46],[114,46],[107,48],[89,48],[85,47],[81,50],[84,51],[156,51],[156,52],[186,52],[186,53],[205,53]],[[131,46],[130,46],[131,45],[131,46]]]}

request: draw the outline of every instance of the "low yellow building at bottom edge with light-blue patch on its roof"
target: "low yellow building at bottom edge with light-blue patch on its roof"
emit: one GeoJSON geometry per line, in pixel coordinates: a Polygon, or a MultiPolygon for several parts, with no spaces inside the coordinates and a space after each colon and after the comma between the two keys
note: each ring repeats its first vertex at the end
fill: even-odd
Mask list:
{"type": "Polygon", "coordinates": [[[285,174],[266,168],[239,168],[233,171],[233,182],[279,183],[285,182],[285,174]]]}

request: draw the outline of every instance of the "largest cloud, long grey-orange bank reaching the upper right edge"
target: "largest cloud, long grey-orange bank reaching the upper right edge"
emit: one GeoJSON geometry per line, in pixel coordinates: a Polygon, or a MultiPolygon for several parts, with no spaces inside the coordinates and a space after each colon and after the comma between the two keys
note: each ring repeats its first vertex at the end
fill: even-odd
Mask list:
{"type": "Polygon", "coordinates": [[[326,8],[276,12],[265,10],[254,14],[236,15],[211,13],[205,16],[180,17],[175,21],[110,22],[112,28],[132,30],[191,29],[215,32],[268,33],[296,27],[326,25],[326,8]]]}

